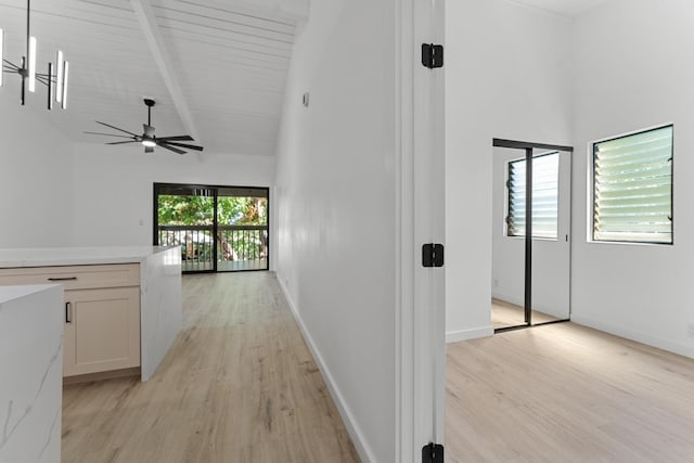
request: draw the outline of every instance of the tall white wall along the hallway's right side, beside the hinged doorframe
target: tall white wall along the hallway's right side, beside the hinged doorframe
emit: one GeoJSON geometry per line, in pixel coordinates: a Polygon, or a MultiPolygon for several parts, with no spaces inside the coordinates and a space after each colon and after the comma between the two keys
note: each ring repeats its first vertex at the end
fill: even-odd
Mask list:
{"type": "Polygon", "coordinates": [[[311,2],[277,168],[278,279],[373,462],[396,446],[394,21],[390,1],[311,2]]]}

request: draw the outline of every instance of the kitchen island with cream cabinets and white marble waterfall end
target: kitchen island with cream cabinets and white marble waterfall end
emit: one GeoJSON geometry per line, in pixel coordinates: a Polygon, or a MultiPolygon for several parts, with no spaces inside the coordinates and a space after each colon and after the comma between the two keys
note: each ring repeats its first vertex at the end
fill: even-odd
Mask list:
{"type": "Polygon", "coordinates": [[[149,381],[181,330],[178,246],[0,249],[0,286],[47,283],[65,290],[66,377],[149,381]]]}

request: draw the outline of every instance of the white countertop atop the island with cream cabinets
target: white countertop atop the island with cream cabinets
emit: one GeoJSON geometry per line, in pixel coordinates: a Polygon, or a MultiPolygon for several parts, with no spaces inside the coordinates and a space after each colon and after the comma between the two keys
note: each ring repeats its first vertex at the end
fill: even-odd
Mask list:
{"type": "Polygon", "coordinates": [[[138,263],[175,246],[0,248],[0,268],[138,263]]]}

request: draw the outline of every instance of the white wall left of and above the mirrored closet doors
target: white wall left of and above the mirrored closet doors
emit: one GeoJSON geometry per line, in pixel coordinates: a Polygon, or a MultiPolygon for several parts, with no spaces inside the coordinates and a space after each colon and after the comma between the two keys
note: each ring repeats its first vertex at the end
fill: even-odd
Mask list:
{"type": "Polygon", "coordinates": [[[573,144],[570,33],[503,0],[446,4],[449,340],[492,332],[492,138],[573,144]]]}

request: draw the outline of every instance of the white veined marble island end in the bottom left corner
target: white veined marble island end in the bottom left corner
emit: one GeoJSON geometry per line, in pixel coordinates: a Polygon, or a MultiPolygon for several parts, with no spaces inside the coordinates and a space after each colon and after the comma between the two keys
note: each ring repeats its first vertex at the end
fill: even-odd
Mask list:
{"type": "Polygon", "coordinates": [[[61,461],[60,285],[0,287],[0,462],[61,461]]]}

